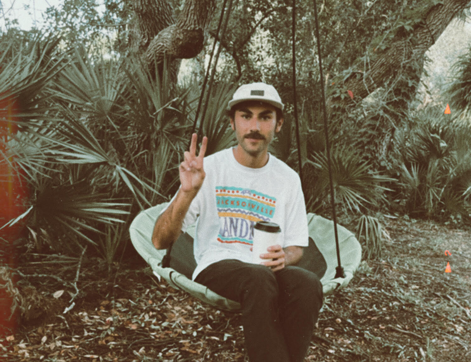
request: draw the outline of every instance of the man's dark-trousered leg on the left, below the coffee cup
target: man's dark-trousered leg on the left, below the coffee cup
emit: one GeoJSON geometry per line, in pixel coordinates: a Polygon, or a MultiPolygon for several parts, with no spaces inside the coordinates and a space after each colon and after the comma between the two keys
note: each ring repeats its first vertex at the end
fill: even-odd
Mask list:
{"type": "Polygon", "coordinates": [[[290,361],[278,314],[278,284],[271,269],[221,260],[205,268],[195,282],[241,304],[245,349],[251,362],[290,361]]]}

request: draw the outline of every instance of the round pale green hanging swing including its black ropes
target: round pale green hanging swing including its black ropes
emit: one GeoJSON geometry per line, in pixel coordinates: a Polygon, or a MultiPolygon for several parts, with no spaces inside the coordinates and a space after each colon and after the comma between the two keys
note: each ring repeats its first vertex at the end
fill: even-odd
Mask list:
{"type": "MultiPolygon", "coordinates": [[[[219,18],[218,29],[216,31],[219,34],[221,29],[222,20],[228,0],[224,0],[222,6],[221,15],[219,18]]],[[[317,4],[316,0],[313,0],[314,15],[316,20],[316,38],[317,38],[317,55],[319,63],[320,79],[324,79],[322,73],[322,57],[320,49],[320,37],[319,37],[319,24],[317,19],[317,4]]],[[[224,25],[222,26],[222,34],[224,34],[227,26],[227,20],[232,7],[232,0],[229,2],[227,8],[227,17],[224,25]]],[[[294,97],[294,118],[296,125],[296,141],[298,146],[298,163],[301,165],[300,156],[300,131],[299,121],[297,115],[297,102],[296,102],[296,51],[295,51],[295,29],[296,29],[296,0],[292,1],[292,79],[293,79],[293,97],[294,97]]],[[[203,80],[203,88],[200,94],[198,107],[196,110],[196,116],[193,123],[192,133],[195,131],[197,120],[199,119],[200,109],[203,104],[203,96],[205,94],[205,87],[209,78],[209,71],[211,67],[211,60],[214,54],[216,42],[213,44],[211,51],[210,62],[203,80]]],[[[213,71],[211,73],[211,79],[209,81],[209,90],[207,92],[208,97],[211,94],[211,85],[213,82],[214,73],[216,71],[216,65],[218,62],[220,47],[216,54],[216,60],[213,65],[213,71]]],[[[334,202],[334,189],[333,179],[331,171],[331,157],[330,157],[330,142],[327,134],[327,112],[325,109],[325,90],[324,84],[321,82],[321,95],[322,105],[324,113],[324,132],[326,142],[326,157],[327,164],[329,166],[329,181],[331,190],[331,205],[333,220],[327,220],[319,215],[308,213],[308,228],[309,228],[309,245],[303,249],[303,256],[298,263],[298,266],[305,268],[317,274],[319,277],[324,294],[328,294],[336,290],[337,288],[345,287],[349,281],[353,278],[353,273],[358,268],[361,260],[361,246],[358,243],[355,236],[346,228],[337,224],[335,215],[335,202],[334,202]]],[[[209,99],[206,101],[203,107],[203,115],[200,121],[200,127],[198,130],[198,138],[201,139],[203,119],[206,113],[206,108],[209,99]]],[[[300,180],[302,184],[302,167],[299,170],[300,180]]],[[[238,310],[240,304],[221,297],[215,292],[209,290],[202,284],[196,283],[191,280],[193,271],[196,268],[196,262],[193,254],[193,238],[195,236],[195,224],[187,228],[185,233],[182,233],[179,238],[171,245],[169,250],[157,250],[152,244],[152,232],[157,217],[162,210],[168,205],[163,203],[156,205],[147,210],[144,210],[138,214],[130,225],[130,238],[131,242],[138,251],[138,253],[146,260],[151,266],[154,274],[159,278],[163,277],[172,287],[187,291],[196,298],[201,299],[214,307],[219,307],[226,310],[238,310]],[[169,255],[166,255],[169,254],[169,255]],[[164,257],[169,258],[164,259],[164,257]],[[162,266],[163,264],[165,265],[162,266]]]]}

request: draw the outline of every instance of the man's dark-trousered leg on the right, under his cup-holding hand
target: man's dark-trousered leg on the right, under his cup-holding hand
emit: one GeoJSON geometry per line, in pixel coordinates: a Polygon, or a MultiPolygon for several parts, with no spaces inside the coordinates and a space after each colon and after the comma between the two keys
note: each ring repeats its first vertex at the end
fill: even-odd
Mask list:
{"type": "Polygon", "coordinates": [[[275,272],[280,291],[280,321],[291,362],[304,361],[319,310],[322,284],[316,274],[299,267],[275,272]]]}

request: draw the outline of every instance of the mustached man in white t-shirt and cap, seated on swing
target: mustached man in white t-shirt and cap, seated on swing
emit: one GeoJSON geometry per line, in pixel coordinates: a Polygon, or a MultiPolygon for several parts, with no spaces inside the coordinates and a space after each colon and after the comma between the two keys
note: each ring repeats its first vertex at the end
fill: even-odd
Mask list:
{"type": "Polygon", "coordinates": [[[166,249],[197,220],[193,280],[241,304],[251,362],[303,361],[322,306],[317,275],[294,266],[309,240],[300,178],[268,153],[283,108],[273,86],[239,87],[228,104],[237,146],[204,157],[203,137],[196,156],[193,134],[179,166],[180,189],[152,236],[157,249],[166,249]],[[280,225],[282,242],[260,255],[266,262],[252,264],[259,220],[280,225]]]}

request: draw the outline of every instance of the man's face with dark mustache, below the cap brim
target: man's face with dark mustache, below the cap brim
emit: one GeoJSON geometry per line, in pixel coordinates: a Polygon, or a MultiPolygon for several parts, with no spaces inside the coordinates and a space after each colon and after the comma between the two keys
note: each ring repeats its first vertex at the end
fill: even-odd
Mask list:
{"type": "Polygon", "coordinates": [[[283,118],[276,121],[276,108],[268,103],[243,103],[237,107],[231,127],[237,142],[252,157],[268,150],[275,132],[280,132],[283,118]]]}

